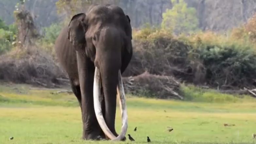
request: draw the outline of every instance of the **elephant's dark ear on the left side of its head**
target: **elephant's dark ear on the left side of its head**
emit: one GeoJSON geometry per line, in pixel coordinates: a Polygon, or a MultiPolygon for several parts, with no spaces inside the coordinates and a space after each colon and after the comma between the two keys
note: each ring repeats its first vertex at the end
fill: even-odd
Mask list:
{"type": "Polygon", "coordinates": [[[76,50],[85,48],[85,33],[87,25],[85,23],[86,14],[79,13],[72,17],[68,28],[68,39],[76,50]]]}

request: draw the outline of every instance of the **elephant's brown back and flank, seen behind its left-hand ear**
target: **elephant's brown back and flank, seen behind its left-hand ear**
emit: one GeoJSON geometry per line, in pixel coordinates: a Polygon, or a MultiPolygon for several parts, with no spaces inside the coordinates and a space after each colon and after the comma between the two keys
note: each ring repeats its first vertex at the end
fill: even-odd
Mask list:
{"type": "Polygon", "coordinates": [[[72,79],[78,78],[76,51],[67,38],[68,26],[62,28],[55,41],[55,52],[61,67],[72,79]]]}

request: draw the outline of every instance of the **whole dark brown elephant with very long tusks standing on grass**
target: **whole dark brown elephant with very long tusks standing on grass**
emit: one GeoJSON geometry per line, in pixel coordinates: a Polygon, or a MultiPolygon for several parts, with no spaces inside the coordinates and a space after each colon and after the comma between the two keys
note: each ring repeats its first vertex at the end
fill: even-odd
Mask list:
{"type": "Polygon", "coordinates": [[[121,74],[133,55],[130,18],[115,5],[92,5],[74,15],[55,41],[55,52],[76,96],[85,140],[125,140],[127,109],[121,74]],[[117,96],[122,116],[115,130],[117,96]]]}

